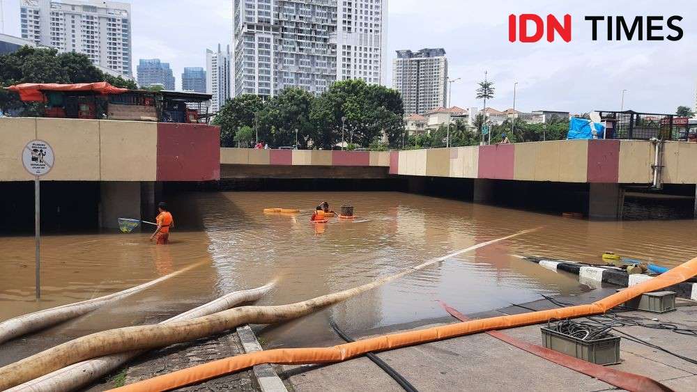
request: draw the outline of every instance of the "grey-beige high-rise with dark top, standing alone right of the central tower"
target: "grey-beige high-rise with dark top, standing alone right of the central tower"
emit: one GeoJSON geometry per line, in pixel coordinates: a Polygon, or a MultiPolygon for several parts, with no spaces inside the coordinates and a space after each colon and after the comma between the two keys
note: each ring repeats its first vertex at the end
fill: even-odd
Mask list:
{"type": "Polygon", "coordinates": [[[404,113],[423,115],[447,107],[447,58],[444,49],[398,50],[392,84],[401,93],[404,113]]]}

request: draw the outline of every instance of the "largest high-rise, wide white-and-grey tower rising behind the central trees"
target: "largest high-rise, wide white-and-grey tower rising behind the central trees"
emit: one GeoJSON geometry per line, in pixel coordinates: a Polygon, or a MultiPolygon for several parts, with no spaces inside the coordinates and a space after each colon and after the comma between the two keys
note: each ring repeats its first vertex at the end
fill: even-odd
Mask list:
{"type": "Polygon", "coordinates": [[[383,82],[387,0],[235,0],[235,95],[383,82]]]}

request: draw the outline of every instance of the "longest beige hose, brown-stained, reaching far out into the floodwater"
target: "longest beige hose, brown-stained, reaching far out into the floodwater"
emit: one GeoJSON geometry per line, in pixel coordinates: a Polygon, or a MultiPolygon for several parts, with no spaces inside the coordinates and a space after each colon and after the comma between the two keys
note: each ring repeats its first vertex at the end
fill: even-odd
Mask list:
{"type": "Polygon", "coordinates": [[[308,299],[307,301],[296,302],[295,304],[282,306],[243,306],[204,317],[198,317],[193,320],[171,322],[167,325],[155,324],[139,327],[124,327],[83,336],[82,338],[70,340],[69,342],[57,345],[56,347],[34,354],[28,358],[3,366],[0,368],[0,390],[8,389],[22,382],[27,382],[30,379],[72,365],[72,363],[94,358],[95,356],[164,347],[174,343],[181,343],[213,334],[219,334],[222,331],[227,331],[241,324],[273,324],[275,322],[293,320],[303,315],[308,315],[325,306],[336,304],[337,302],[344,301],[362,292],[376,288],[388,281],[393,281],[406,274],[411,274],[412,272],[434,265],[446,258],[466,251],[473,251],[482,246],[507,240],[525,233],[530,233],[530,231],[532,230],[523,230],[512,235],[507,235],[506,237],[500,237],[496,240],[482,242],[470,246],[467,249],[451,253],[450,255],[429,260],[405,272],[386,276],[357,288],[323,295],[321,297],[308,299]]]}

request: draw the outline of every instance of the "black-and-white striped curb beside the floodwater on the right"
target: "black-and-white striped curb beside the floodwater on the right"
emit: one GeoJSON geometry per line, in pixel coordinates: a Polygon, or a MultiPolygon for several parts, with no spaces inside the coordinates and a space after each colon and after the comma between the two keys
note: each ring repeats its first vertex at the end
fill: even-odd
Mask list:
{"type": "MultiPolygon", "coordinates": [[[[620,287],[631,287],[652,279],[651,276],[643,274],[629,275],[626,271],[616,267],[592,267],[582,264],[581,262],[553,260],[537,256],[520,257],[523,260],[537,262],[537,264],[546,269],[551,269],[553,271],[560,270],[579,275],[579,281],[581,283],[588,284],[593,288],[599,288],[600,283],[609,283],[620,287]]],[[[677,297],[697,301],[697,283],[678,283],[665,290],[674,291],[677,297]]]]}

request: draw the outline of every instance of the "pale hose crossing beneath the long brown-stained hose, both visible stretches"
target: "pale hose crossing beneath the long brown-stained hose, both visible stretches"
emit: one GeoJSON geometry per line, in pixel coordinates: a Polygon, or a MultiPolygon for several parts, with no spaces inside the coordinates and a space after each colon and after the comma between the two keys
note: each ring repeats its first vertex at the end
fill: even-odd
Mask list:
{"type": "MultiPolygon", "coordinates": [[[[225,309],[232,308],[233,306],[245,302],[256,301],[263,297],[263,295],[268,294],[268,292],[273,289],[274,284],[274,282],[271,282],[260,288],[231,292],[207,304],[164,320],[160,324],[178,320],[191,320],[196,317],[224,311],[225,309]]],[[[112,372],[112,370],[115,370],[135,356],[142,354],[144,351],[145,350],[121,352],[119,354],[100,356],[99,358],[90,359],[89,361],[75,363],[67,368],[56,370],[53,373],[10,388],[8,392],[63,392],[79,389],[103,375],[112,372]]]]}

